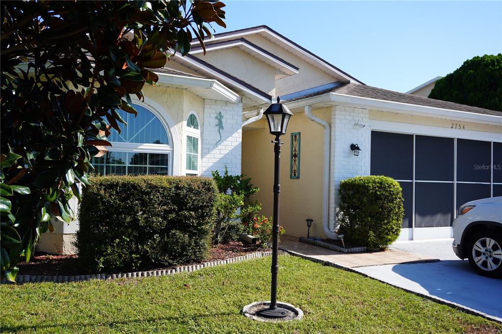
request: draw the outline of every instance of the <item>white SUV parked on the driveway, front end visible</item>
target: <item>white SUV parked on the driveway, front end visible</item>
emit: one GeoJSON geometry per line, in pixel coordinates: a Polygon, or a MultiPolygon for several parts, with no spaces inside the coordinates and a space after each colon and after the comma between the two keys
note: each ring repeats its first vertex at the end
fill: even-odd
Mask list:
{"type": "Polygon", "coordinates": [[[502,278],[502,196],[465,203],[453,221],[453,251],[483,276],[502,278]]]}

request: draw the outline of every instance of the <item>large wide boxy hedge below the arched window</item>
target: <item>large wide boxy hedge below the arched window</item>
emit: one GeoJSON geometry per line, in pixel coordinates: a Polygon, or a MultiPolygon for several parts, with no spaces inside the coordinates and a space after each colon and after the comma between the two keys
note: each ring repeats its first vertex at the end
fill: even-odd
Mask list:
{"type": "Polygon", "coordinates": [[[92,178],[79,211],[79,258],[97,270],[200,261],[209,250],[217,195],[206,178],[92,178]]]}

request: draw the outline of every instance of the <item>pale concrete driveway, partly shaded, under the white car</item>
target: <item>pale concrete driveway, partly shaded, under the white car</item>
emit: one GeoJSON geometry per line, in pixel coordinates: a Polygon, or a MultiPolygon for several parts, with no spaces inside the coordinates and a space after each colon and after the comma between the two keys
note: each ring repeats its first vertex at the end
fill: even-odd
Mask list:
{"type": "Polygon", "coordinates": [[[452,240],[407,241],[391,248],[419,255],[435,256],[430,263],[388,264],[353,268],[370,277],[404,289],[469,308],[502,321],[502,280],[477,275],[467,260],[451,250],[452,240]]]}

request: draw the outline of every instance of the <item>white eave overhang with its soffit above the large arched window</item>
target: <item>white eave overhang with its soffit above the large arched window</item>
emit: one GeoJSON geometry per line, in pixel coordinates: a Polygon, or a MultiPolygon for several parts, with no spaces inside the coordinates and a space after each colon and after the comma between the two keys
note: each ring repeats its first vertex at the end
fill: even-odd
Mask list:
{"type": "MultiPolygon", "coordinates": [[[[155,71],[154,71],[155,72],[155,71]]],[[[175,86],[187,89],[191,93],[201,96],[200,89],[204,89],[203,98],[237,103],[240,95],[214,79],[193,78],[182,75],[155,72],[159,76],[159,86],[175,86]],[[207,90],[207,91],[206,91],[207,90]]]]}

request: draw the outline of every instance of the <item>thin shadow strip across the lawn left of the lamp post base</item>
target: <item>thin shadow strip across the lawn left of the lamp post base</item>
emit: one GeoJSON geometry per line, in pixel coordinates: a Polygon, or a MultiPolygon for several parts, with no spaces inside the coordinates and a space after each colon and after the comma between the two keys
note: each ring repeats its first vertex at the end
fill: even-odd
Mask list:
{"type": "MultiPolygon", "coordinates": [[[[114,327],[116,325],[127,325],[132,323],[152,323],[157,321],[171,321],[175,320],[177,324],[183,325],[187,324],[189,320],[194,319],[203,319],[210,318],[215,316],[228,316],[228,315],[238,315],[239,313],[235,312],[226,312],[226,313],[212,313],[212,314],[195,314],[195,315],[187,315],[187,316],[167,316],[167,317],[149,317],[143,319],[131,319],[131,320],[123,320],[123,321],[109,321],[109,322],[71,322],[71,323],[54,323],[54,324],[40,324],[40,325],[19,325],[19,326],[2,326],[0,328],[1,332],[4,331],[13,331],[17,332],[19,330],[39,330],[44,328],[65,328],[65,329],[83,329],[87,326],[105,326],[105,327],[114,327]]],[[[244,319],[244,316],[242,316],[244,319]]]]}

